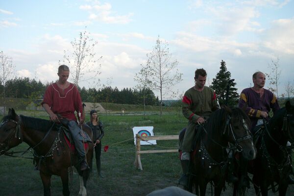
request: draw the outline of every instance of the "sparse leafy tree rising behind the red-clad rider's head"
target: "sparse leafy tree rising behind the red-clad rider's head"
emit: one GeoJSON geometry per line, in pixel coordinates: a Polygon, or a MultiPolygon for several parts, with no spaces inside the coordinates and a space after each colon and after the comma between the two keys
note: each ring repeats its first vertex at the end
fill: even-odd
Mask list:
{"type": "MultiPolygon", "coordinates": [[[[71,53],[69,50],[64,50],[64,60],[71,65],[71,78],[73,83],[78,85],[80,81],[86,81],[93,78],[96,78],[99,75],[101,65],[97,65],[97,61],[102,58],[100,56],[96,59],[96,52],[94,51],[97,41],[94,41],[93,38],[90,38],[90,33],[86,30],[79,33],[78,39],[74,38],[74,41],[71,42],[73,51],[71,53]],[[91,73],[91,76],[84,78],[85,73],[91,73]]],[[[59,61],[59,64],[60,61],[59,61]]]]}

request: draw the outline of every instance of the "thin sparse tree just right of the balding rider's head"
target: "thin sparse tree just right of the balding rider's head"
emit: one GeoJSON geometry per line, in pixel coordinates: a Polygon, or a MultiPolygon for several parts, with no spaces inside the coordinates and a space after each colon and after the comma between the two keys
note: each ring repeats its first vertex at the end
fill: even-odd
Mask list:
{"type": "Polygon", "coordinates": [[[270,73],[265,73],[268,77],[268,80],[270,81],[270,86],[268,89],[273,93],[276,93],[277,98],[279,98],[278,85],[281,74],[279,60],[280,59],[278,57],[276,60],[271,59],[271,64],[268,65],[270,73]]]}

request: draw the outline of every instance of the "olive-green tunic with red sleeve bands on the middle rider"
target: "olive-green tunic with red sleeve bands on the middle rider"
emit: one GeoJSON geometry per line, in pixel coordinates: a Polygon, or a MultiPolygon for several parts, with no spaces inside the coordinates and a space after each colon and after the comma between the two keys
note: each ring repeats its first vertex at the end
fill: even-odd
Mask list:
{"type": "Polygon", "coordinates": [[[189,121],[196,123],[201,117],[209,117],[211,113],[218,109],[215,91],[207,86],[200,92],[190,88],[186,91],[182,100],[183,115],[189,121]]]}

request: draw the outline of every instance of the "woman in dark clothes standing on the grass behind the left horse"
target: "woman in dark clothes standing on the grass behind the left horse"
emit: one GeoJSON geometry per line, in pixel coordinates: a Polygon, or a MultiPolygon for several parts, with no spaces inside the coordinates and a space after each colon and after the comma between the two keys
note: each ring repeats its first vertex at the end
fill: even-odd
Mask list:
{"type": "Polygon", "coordinates": [[[96,110],[91,110],[90,121],[87,123],[93,131],[93,140],[95,142],[95,156],[97,172],[101,178],[104,176],[101,174],[101,139],[104,136],[103,124],[99,121],[99,115],[96,110]]]}

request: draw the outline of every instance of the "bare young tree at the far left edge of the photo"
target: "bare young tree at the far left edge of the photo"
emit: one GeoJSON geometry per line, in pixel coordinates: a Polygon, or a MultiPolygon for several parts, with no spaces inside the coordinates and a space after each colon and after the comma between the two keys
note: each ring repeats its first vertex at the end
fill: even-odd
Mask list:
{"type": "Polygon", "coordinates": [[[0,82],[3,87],[3,114],[5,114],[6,107],[6,94],[5,94],[5,83],[7,80],[11,79],[15,73],[15,66],[12,64],[12,58],[6,56],[3,51],[0,52],[0,82]]]}

